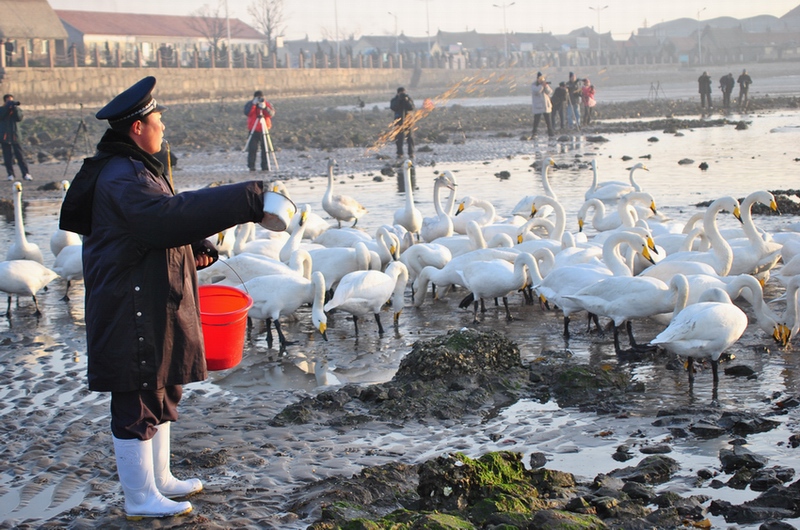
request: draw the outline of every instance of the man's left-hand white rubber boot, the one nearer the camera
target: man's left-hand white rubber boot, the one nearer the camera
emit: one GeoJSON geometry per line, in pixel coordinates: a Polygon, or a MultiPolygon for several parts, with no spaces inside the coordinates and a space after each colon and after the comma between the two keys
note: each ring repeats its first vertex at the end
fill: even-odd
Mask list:
{"type": "Polygon", "coordinates": [[[158,489],[153,474],[152,440],[120,440],[114,437],[117,474],[125,493],[125,514],[138,521],[145,517],[170,517],[192,511],[190,502],[167,499],[158,489]]]}

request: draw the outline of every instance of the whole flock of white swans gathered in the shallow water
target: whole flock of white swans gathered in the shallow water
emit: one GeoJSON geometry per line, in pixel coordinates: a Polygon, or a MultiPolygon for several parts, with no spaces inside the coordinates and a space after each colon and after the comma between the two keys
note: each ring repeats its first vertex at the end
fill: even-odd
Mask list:
{"type": "MultiPolygon", "coordinates": [[[[777,209],[771,193],[753,192],[741,204],[720,197],[688,222],[677,223],[661,215],[652,195],[636,182],[635,172],[647,170],[643,164],[630,169],[628,181],[604,182],[592,162],[593,181],[573,232],[549,183],[554,165],[552,159],[541,164],[542,193],[523,197],[507,215],[485,199],[458,198],[455,176],[443,171],[433,182],[434,211],[423,213],[414,200],[412,163],[406,160],[403,205],[392,224],[381,225],[373,237],[356,227],[367,209],[335,192],[331,160],[320,213],[302,204],[286,232],[248,224],[211,238],[222,258],[199,271],[199,281],[246,290],[254,301],[249,316],[267,322],[270,348],[274,326],[282,351],[289,341],[281,320],[302,306],[311,306],[312,325],[326,339],[331,311],[352,315],[355,334],[360,319],[371,315],[382,334],[382,311],[390,306],[396,325],[407,291],[411,305],[422,308],[426,300],[445,300],[454,287],[460,288],[458,307],[471,310],[475,324],[487,300],[502,300],[511,320],[509,297],[522,293],[528,303],[538,297],[543,307],[563,314],[565,337],[576,314],[586,314],[596,326],[598,317],[607,318],[617,353],[663,348],[687,358],[690,380],[692,361],[708,360],[715,385],[720,356],[748,324],[737,305],[741,298],[751,308],[754,327],[771,340],[786,346],[797,334],[800,233],[767,233],[751,215],[756,203],[777,209]],[[735,216],[741,227],[721,230],[723,215],[735,216]],[[596,232],[591,238],[584,231],[588,225],[596,232]],[[773,281],[785,289],[782,313],[764,298],[773,269],[778,271],[773,281]],[[632,324],[640,319],[662,323],[663,331],[647,343],[637,342],[632,324]],[[628,350],[621,344],[623,332],[628,350]]],[[[64,181],[65,190],[68,185],[64,181]]],[[[14,186],[15,239],[0,262],[0,291],[9,297],[7,313],[13,294],[33,297],[38,313],[36,293],[45,285],[60,276],[68,290],[81,278],[81,242],[56,230],[50,241],[54,266],[45,267],[41,250],[26,239],[22,185],[14,186]]],[[[273,191],[289,196],[281,182],[273,191]]]]}

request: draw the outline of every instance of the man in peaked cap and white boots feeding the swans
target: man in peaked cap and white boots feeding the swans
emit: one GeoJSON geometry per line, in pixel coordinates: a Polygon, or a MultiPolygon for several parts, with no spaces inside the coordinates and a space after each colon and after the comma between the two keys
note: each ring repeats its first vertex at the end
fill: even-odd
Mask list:
{"type": "Polygon", "coordinates": [[[154,157],[165,110],[154,77],[97,113],[108,120],[98,153],[84,161],[60,226],[84,236],[89,390],[111,393],[111,433],[129,519],[192,509],[200,480],[170,472],[170,424],[183,385],[207,377],[197,268],[217,259],[206,237],[263,222],[263,182],[176,194],[154,157]]]}

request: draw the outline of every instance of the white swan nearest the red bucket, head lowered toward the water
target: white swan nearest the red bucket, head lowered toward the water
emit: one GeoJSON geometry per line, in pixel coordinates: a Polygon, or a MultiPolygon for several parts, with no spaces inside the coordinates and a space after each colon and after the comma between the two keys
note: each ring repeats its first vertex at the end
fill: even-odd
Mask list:
{"type": "Polygon", "coordinates": [[[267,321],[267,346],[272,348],[272,329],[278,332],[281,351],[286,351],[286,337],[281,330],[280,317],[297,311],[303,304],[311,304],[311,321],[314,329],[328,340],[326,329],[328,318],[322,310],[325,303],[325,278],[322,273],[312,273],[307,280],[296,274],[273,274],[259,276],[244,283],[244,290],[253,299],[248,316],[267,321]]]}

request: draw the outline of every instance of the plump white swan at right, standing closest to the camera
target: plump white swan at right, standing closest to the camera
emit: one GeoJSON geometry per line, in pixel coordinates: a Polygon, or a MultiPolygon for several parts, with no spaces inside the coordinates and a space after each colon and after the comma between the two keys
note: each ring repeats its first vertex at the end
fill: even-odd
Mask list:
{"type": "Polygon", "coordinates": [[[719,288],[704,292],[697,303],[678,312],[667,329],[650,341],[676,355],[687,357],[689,381],[694,381],[694,359],[709,359],[714,386],[719,383],[719,357],[747,328],[747,316],[719,288]]]}

